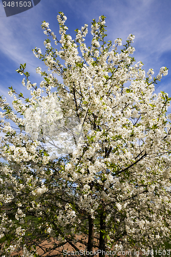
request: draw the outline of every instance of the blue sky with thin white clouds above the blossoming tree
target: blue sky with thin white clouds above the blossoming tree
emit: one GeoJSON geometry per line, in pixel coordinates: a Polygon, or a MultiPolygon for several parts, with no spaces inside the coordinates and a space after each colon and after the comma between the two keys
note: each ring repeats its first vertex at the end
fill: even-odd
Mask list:
{"type": "Polygon", "coordinates": [[[160,67],[169,68],[168,76],[159,82],[156,93],[164,90],[171,97],[170,0],[41,0],[34,8],[10,17],[6,17],[0,3],[0,95],[7,97],[7,102],[13,99],[8,96],[8,87],[13,86],[18,93],[27,91],[21,84],[23,76],[15,71],[20,63],[27,63],[32,83],[41,82],[35,68],[44,66],[34,57],[32,49],[36,46],[42,52],[45,50],[43,42],[47,37],[41,28],[42,21],[48,22],[55,35],[59,35],[56,20],[59,11],[67,16],[66,26],[73,38],[74,29],[81,29],[86,23],[90,31],[92,19],[98,20],[100,15],[106,16],[108,40],[113,43],[117,38],[125,43],[130,33],[135,34],[136,62],[142,61],[146,72],[153,68],[155,77],[160,67]]]}

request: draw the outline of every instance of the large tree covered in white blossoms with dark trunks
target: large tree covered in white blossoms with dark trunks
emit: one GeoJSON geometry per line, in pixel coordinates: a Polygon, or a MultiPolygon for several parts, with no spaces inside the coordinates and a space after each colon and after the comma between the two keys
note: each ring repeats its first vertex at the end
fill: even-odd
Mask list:
{"type": "Polygon", "coordinates": [[[58,256],[67,246],[86,249],[83,255],[96,248],[103,256],[102,250],[117,254],[162,245],[171,228],[171,117],[166,115],[170,98],[154,94],[154,84],[167,75],[167,68],[156,78],[149,69],[145,77],[142,62],[135,64],[131,57],[134,35],[119,53],[121,39],[115,45],[105,42],[104,16],[92,22],[91,47],[84,42],[88,25],[75,30],[72,40],[66,16],[61,12],[57,19],[61,39],[43,22],[46,52],[33,50],[49,73],[38,67],[44,79],[36,86],[26,64],[21,65],[17,72],[25,76],[22,84],[31,89],[31,98],[12,87],[9,91],[13,108],[25,118],[18,118],[1,97],[2,118],[18,127],[1,120],[1,156],[8,161],[0,173],[1,256],[21,249],[22,256],[38,256],[38,248],[46,256],[58,256]],[[63,152],[61,137],[53,137],[60,135],[56,122],[70,117],[81,128],[74,134],[63,122],[75,144],[63,152]],[[53,158],[47,137],[55,141],[58,154],[53,158]]]}

